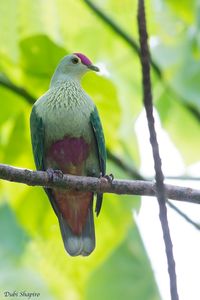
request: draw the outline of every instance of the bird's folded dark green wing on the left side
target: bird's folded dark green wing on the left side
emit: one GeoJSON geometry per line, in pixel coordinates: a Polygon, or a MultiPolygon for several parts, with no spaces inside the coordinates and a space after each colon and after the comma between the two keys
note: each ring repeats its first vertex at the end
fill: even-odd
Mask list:
{"type": "Polygon", "coordinates": [[[36,113],[35,106],[31,112],[30,127],[35,165],[37,170],[44,170],[44,124],[42,118],[36,113]]]}

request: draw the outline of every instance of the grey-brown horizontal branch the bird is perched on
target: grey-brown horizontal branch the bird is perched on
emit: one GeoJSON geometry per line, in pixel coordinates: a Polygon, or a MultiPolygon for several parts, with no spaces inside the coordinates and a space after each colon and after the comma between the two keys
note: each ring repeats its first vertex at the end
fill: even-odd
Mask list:
{"type": "MultiPolygon", "coordinates": [[[[20,182],[31,186],[57,187],[75,191],[113,193],[124,195],[155,196],[155,183],[144,180],[120,180],[109,182],[104,177],[63,175],[54,172],[52,177],[45,171],[32,171],[0,164],[0,179],[20,182]]],[[[200,190],[175,185],[165,185],[169,199],[200,204],[200,190]]]]}

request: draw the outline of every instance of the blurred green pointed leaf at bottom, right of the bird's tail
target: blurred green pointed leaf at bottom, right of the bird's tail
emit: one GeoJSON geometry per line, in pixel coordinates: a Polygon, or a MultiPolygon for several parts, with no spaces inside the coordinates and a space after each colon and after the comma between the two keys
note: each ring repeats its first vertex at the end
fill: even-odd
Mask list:
{"type": "Polygon", "coordinates": [[[136,226],[87,281],[86,299],[160,299],[136,226]]]}

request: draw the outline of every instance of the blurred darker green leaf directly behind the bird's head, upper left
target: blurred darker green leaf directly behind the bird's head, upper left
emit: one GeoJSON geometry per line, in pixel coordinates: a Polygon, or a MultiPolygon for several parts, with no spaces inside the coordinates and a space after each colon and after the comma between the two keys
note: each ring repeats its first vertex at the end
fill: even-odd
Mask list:
{"type": "Polygon", "coordinates": [[[60,59],[68,52],[48,36],[35,35],[20,42],[22,83],[31,93],[44,93],[60,59]]]}

